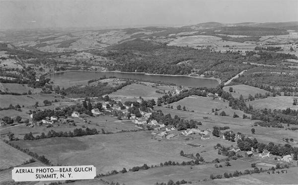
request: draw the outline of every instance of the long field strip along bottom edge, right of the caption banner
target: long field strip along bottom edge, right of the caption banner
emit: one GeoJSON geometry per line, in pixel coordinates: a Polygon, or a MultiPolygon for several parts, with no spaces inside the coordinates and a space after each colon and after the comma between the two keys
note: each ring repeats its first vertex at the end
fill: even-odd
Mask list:
{"type": "Polygon", "coordinates": [[[204,179],[209,180],[210,175],[223,175],[224,172],[233,173],[235,170],[251,170],[250,163],[236,160],[230,161],[231,166],[226,167],[224,163],[219,163],[223,168],[216,168],[214,164],[192,166],[169,166],[162,168],[153,168],[146,171],[139,171],[127,174],[117,174],[115,176],[103,177],[108,182],[119,182],[127,185],[153,185],[156,182],[167,183],[170,179],[174,182],[185,180],[191,182],[200,182],[204,179]]]}

